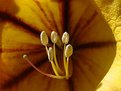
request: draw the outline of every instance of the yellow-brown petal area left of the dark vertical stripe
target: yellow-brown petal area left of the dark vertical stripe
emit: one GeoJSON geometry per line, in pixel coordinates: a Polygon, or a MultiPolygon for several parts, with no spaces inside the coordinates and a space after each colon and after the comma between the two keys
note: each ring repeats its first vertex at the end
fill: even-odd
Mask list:
{"type": "Polygon", "coordinates": [[[52,30],[62,34],[58,3],[49,0],[10,0],[6,3],[0,0],[0,4],[0,90],[68,91],[66,80],[43,76],[22,58],[23,54],[28,54],[35,66],[51,73],[38,35],[40,31],[50,34],[52,30]]]}

